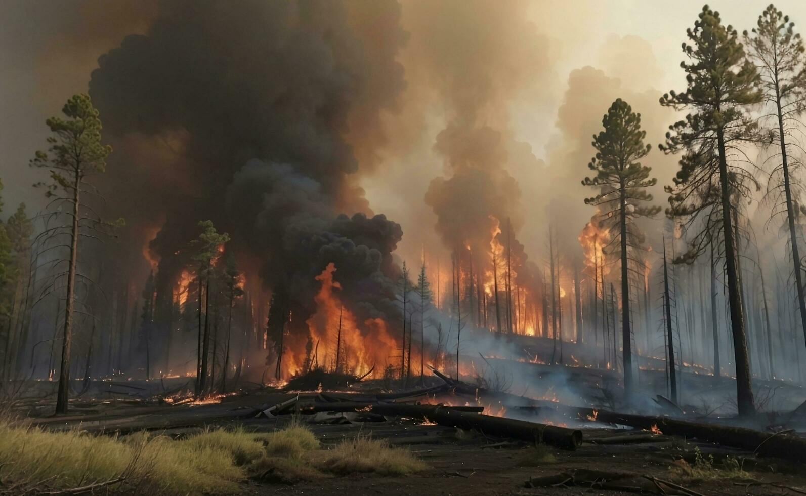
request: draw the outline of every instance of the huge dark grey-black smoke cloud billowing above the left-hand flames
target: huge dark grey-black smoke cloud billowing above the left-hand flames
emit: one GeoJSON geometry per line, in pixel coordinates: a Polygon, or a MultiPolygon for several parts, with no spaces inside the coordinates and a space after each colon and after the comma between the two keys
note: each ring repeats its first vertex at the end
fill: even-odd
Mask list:
{"type": "Polygon", "coordinates": [[[164,2],[147,34],[101,57],[89,93],[116,147],[104,187],[131,246],[160,229],[150,245],[158,300],[197,222],[212,219],[296,325],[331,262],[351,311],[395,314],[401,227],[372,216],[351,177],[375,165],[375,123],[405,86],[399,10],[387,0],[164,2]]]}

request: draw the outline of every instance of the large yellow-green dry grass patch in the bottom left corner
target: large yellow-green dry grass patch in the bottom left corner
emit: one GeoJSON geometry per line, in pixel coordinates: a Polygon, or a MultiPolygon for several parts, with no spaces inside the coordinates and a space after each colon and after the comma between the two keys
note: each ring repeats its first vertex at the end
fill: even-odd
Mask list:
{"type": "Polygon", "coordinates": [[[239,464],[262,456],[251,436],[218,430],[179,441],[146,432],[118,438],[0,419],[0,481],[35,491],[45,489],[42,481],[59,490],[124,477],[139,493],[231,494],[247,476],[239,464]]]}

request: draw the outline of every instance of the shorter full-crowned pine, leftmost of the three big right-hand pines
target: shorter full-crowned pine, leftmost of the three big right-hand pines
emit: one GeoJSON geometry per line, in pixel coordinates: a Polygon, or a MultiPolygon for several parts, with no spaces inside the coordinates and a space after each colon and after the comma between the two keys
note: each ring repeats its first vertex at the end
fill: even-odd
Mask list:
{"type": "Polygon", "coordinates": [[[611,235],[611,243],[620,241],[621,255],[621,346],[624,356],[625,397],[633,391],[633,359],[629,315],[629,255],[628,248],[640,248],[644,236],[634,220],[652,217],[660,211],[659,206],[643,206],[652,201],[645,188],[655,185],[650,179],[650,167],[640,160],[650,152],[644,144],[646,131],[641,129],[641,115],[621,98],[610,106],[602,118],[603,131],[593,136],[596,156],[588,167],[596,172],[594,177],[585,177],[583,185],[600,189],[600,194],[586,198],[586,205],[600,208],[600,223],[611,235]],[[604,212],[601,209],[604,208],[604,212]]]}

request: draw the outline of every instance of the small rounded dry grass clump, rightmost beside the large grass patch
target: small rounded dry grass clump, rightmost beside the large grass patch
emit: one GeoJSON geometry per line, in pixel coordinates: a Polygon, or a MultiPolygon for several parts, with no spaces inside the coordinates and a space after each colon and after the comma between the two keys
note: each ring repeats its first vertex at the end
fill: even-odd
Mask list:
{"type": "Polygon", "coordinates": [[[426,469],[427,465],[405,448],[392,448],[384,440],[358,436],[344,440],[327,452],[322,469],[336,474],[377,473],[406,475],[426,469]]]}

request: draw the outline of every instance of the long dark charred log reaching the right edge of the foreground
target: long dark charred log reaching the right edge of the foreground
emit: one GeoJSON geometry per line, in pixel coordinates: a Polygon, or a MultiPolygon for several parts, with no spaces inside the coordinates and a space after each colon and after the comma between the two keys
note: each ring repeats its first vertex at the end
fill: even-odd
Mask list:
{"type": "Polygon", "coordinates": [[[593,410],[590,408],[566,407],[562,410],[573,411],[576,415],[579,415],[580,419],[595,416],[598,422],[619,423],[646,430],[652,430],[652,427],[657,427],[666,435],[696,438],[709,443],[756,452],[762,456],[775,456],[787,460],[806,462],[806,439],[794,434],[771,434],[747,427],[692,422],[670,417],[623,414],[612,411],[599,410],[594,415],[593,410]]]}

